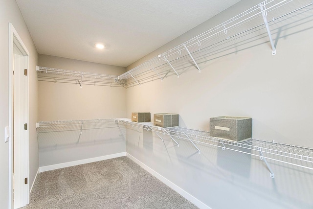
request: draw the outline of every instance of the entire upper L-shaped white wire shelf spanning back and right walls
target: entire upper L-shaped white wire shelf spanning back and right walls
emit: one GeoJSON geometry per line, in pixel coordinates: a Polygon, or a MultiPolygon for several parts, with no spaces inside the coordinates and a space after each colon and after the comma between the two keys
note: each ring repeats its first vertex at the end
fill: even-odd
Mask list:
{"type": "MultiPolygon", "coordinates": [[[[274,55],[276,49],[270,32],[270,29],[273,28],[270,27],[274,27],[277,22],[283,22],[290,16],[298,15],[298,11],[301,9],[312,10],[312,5],[312,0],[262,1],[224,23],[216,25],[119,76],[37,67],[37,77],[41,81],[75,83],[81,87],[83,84],[88,84],[127,88],[130,85],[141,85],[152,75],[163,80],[169,71],[179,77],[179,73],[186,67],[186,64],[193,65],[198,72],[201,72],[197,62],[210,57],[221,46],[224,48],[234,47],[239,37],[255,31],[268,34],[274,55]]],[[[256,36],[259,35],[259,33],[256,34],[256,36]]]]}

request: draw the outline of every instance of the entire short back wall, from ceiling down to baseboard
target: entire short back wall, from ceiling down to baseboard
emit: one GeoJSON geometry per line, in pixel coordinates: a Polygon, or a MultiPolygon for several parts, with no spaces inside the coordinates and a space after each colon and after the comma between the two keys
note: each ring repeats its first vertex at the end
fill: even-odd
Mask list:
{"type": "MultiPolygon", "coordinates": [[[[120,75],[125,68],[39,55],[39,66],[120,75]]],[[[126,116],[126,89],[39,81],[39,117],[42,121],[107,119],[126,116]]],[[[39,137],[40,166],[96,158],[126,151],[118,128],[44,133],[39,137]]]]}

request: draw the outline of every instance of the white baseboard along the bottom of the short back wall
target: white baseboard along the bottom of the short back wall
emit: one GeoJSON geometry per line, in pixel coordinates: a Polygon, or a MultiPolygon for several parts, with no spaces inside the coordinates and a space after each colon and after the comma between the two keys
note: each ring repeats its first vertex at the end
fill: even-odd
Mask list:
{"type": "Polygon", "coordinates": [[[79,161],[72,161],[72,162],[67,162],[67,163],[59,163],[59,164],[54,164],[54,165],[42,166],[42,167],[39,167],[39,173],[44,172],[44,171],[49,171],[49,170],[55,170],[55,169],[59,169],[59,168],[70,167],[70,166],[74,166],[74,165],[80,165],[80,164],[85,164],[85,163],[93,163],[93,162],[97,162],[97,161],[109,160],[112,158],[118,158],[118,157],[123,157],[123,156],[126,156],[126,152],[120,152],[120,153],[100,156],[100,157],[96,157],[96,158],[83,159],[83,160],[79,160],[79,161]]]}

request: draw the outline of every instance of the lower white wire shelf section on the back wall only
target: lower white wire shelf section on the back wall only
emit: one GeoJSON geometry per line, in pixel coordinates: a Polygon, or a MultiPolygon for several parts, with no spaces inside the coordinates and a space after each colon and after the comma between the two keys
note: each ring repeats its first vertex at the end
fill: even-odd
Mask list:
{"type": "Polygon", "coordinates": [[[117,128],[115,119],[57,120],[36,123],[37,134],[61,131],[80,131],[89,129],[117,128]]]}

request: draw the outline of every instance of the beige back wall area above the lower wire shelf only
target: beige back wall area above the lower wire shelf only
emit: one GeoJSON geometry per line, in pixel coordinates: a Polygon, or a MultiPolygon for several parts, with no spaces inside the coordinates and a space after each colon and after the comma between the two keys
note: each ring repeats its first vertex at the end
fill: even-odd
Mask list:
{"type": "MultiPolygon", "coordinates": [[[[125,68],[39,55],[39,66],[64,70],[120,75],[125,68]]],[[[80,120],[124,117],[126,90],[108,87],[39,81],[40,120],[80,120]]]]}

